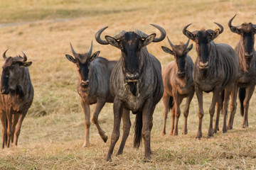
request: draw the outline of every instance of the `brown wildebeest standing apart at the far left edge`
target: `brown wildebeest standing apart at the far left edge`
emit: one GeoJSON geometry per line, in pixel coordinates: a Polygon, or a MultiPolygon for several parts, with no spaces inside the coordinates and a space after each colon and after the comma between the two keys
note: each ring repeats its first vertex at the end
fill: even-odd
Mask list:
{"type": "MultiPolygon", "coordinates": [[[[7,51],[7,50],[6,50],[7,51]]],[[[33,86],[29,76],[27,57],[6,57],[1,74],[0,117],[3,130],[3,145],[10,147],[10,140],[18,144],[21,124],[33,101],[33,86]],[[17,127],[16,127],[17,125],[17,127]],[[14,138],[15,135],[15,138],[14,138]]]]}

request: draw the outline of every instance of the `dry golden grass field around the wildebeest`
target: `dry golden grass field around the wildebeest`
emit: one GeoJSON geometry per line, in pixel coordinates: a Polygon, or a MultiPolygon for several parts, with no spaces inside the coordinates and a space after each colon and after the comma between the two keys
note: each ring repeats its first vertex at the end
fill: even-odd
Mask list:
{"type": "MultiPolygon", "coordinates": [[[[183,114],[178,124],[178,136],[161,135],[163,122],[162,101],[154,112],[151,132],[151,162],[144,161],[144,146],[133,148],[131,130],[124,153],[115,156],[121,138],[117,142],[112,162],[105,162],[113,127],[112,104],[107,103],[99,116],[100,125],[109,137],[104,143],[94,124],[90,128],[90,146],[82,148],[85,137],[84,114],[80,96],[76,91],[78,73],[75,64],[65,54],[70,54],[69,42],[76,52],[87,52],[93,40],[92,52],[100,50],[100,56],[117,60],[120,51],[111,45],[100,45],[95,33],[102,27],[107,35],[121,30],[142,30],[144,33],[159,31],[150,23],[165,28],[174,44],[186,42],[182,29],[216,29],[220,23],[224,32],[215,42],[235,47],[239,35],[231,33],[228,21],[235,13],[234,26],[244,22],[256,23],[255,1],[111,1],[111,0],[9,0],[0,2],[0,52],[9,48],[7,55],[25,52],[35,94],[33,104],[21,127],[18,147],[0,150],[0,169],[256,169],[256,94],[249,108],[249,128],[242,129],[240,104],[235,115],[234,129],[220,131],[208,138],[210,115],[208,108],[212,94],[204,94],[203,137],[196,140],[198,128],[198,102],[194,96],[188,115],[188,135],[182,135],[183,114]]],[[[193,42],[192,42],[193,43],[193,42]]],[[[161,62],[162,68],[174,57],[161,50],[169,47],[167,39],[148,45],[148,50],[161,62]]],[[[194,44],[193,44],[194,45],[194,44]]],[[[196,50],[189,55],[196,60],[196,50]]],[[[0,64],[4,63],[1,58],[0,64]]],[[[183,102],[184,103],[184,102],[183,102]]],[[[181,111],[183,111],[181,106],[181,111]]],[[[95,106],[91,106],[91,112],[95,106]]],[[[92,115],[92,113],[91,113],[92,115]]],[[[131,114],[132,123],[135,116],[131,114]]],[[[122,125],[121,125],[122,126],[122,125]]],[[[122,127],[121,127],[122,135],[122,127]]],[[[122,136],[121,136],[122,137],[122,136]]],[[[0,134],[2,139],[2,134],[0,134]]],[[[2,141],[2,140],[0,140],[2,141]]]]}

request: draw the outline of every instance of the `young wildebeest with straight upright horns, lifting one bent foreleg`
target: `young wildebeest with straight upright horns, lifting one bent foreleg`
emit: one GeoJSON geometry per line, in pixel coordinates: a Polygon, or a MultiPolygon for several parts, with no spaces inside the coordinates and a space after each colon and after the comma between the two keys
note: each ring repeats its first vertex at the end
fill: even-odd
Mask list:
{"type": "Polygon", "coordinates": [[[65,56],[78,67],[77,91],[81,97],[82,108],[85,113],[85,142],[82,147],[90,144],[90,105],[94,103],[96,103],[96,108],[92,115],[92,122],[95,123],[102,140],[107,142],[107,135],[100,128],[98,116],[106,102],[113,103],[114,97],[110,94],[110,74],[117,61],[98,57],[100,51],[92,55],[92,44],[85,54],[76,53],[71,43],[70,47],[75,58],[71,55],[65,56]]]}

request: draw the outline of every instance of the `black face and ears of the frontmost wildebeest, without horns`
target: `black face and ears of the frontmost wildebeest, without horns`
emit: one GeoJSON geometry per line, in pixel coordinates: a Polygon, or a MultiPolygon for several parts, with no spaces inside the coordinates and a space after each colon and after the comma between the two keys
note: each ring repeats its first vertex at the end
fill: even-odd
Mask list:
{"type": "Polygon", "coordinates": [[[134,32],[125,33],[119,40],[108,35],[105,36],[111,45],[122,51],[122,71],[128,81],[139,79],[140,52],[142,47],[149,45],[155,37],[156,34],[151,34],[143,40],[134,32]]]}

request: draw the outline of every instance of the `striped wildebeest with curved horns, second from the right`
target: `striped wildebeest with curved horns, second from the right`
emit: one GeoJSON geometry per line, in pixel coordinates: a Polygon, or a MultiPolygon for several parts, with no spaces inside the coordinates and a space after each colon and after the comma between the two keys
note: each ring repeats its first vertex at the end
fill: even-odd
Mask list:
{"type": "MultiPolygon", "coordinates": [[[[218,130],[218,120],[220,109],[222,106],[220,94],[224,93],[223,109],[224,121],[223,132],[227,132],[226,117],[228,114],[228,100],[231,91],[235,86],[238,76],[238,55],[230,45],[215,44],[213,40],[223,32],[223,26],[218,23],[220,29],[216,30],[195,30],[192,33],[188,30],[188,26],[183,28],[183,34],[189,39],[196,42],[196,52],[198,57],[193,68],[193,80],[195,84],[196,96],[198,98],[198,134],[196,138],[202,137],[202,120],[203,120],[203,91],[213,91],[213,98],[210,104],[210,127],[208,136],[213,137],[213,115],[215,112],[215,104],[217,104],[217,116],[215,130],[218,130]]],[[[234,103],[232,98],[231,103],[234,103]]]]}

